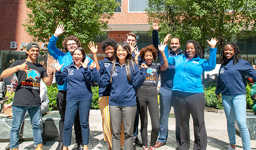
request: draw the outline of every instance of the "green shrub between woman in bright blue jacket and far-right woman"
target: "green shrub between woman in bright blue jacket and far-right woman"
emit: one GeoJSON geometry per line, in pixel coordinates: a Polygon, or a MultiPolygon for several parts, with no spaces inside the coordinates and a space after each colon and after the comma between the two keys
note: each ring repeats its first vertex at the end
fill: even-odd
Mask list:
{"type": "Polygon", "coordinates": [[[218,100],[215,89],[216,87],[204,88],[205,106],[222,110],[222,101],[218,100]]]}

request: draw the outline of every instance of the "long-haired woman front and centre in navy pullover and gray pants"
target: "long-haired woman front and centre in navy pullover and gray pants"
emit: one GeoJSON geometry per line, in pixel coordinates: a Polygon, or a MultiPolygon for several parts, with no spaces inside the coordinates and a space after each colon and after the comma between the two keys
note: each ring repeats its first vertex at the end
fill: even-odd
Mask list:
{"type": "Polygon", "coordinates": [[[133,128],[137,110],[136,91],[143,84],[147,75],[147,66],[139,66],[134,63],[131,54],[131,47],[126,42],[119,42],[114,51],[115,59],[105,73],[101,75],[91,65],[93,78],[98,82],[99,87],[106,87],[111,83],[109,96],[109,111],[112,131],[112,149],[121,150],[121,126],[124,130],[124,150],[133,148],[133,128]]]}

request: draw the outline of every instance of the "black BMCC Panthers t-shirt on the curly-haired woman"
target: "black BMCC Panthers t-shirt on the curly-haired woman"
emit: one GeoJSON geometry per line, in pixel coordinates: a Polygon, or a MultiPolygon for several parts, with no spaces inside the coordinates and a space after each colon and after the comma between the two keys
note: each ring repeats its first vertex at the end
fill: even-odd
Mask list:
{"type": "Polygon", "coordinates": [[[145,78],[143,86],[145,85],[145,86],[157,87],[158,75],[160,75],[160,72],[161,72],[160,65],[148,66],[147,76],[145,78]]]}

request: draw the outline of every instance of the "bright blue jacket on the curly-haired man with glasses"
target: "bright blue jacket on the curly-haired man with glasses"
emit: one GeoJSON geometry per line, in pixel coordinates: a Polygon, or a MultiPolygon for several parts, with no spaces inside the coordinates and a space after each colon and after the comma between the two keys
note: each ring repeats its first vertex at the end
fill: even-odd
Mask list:
{"type": "MultiPolygon", "coordinates": [[[[59,63],[62,64],[64,63],[64,65],[61,68],[61,71],[64,69],[64,67],[70,65],[71,63],[73,63],[73,57],[70,54],[70,52],[61,52],[57,47],[56,47],[56,42],[57,42],[58,38],[56,38],[54,35],[52,35],[52,37],[49,40],[48,43],[48,51],[50,53],[50,55],[54,58],[54,59],[58,59],[59,63]]],[[[85,58],[87,58],[88,56],[86,56],[85,58]]],[[[93,60],[90,58],[89,64],[93,62],[93,60]]],[[[58,90],[67,90],[67,83],[63,84],[63,85],[59,85],[58,84],[58,90]]]]}

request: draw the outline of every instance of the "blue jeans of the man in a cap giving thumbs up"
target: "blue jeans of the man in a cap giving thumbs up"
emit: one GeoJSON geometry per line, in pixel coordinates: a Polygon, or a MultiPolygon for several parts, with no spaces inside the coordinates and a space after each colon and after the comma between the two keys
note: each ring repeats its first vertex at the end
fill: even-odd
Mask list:
{"type": "Polygon", "coordinates": [[[12,113],[13,113],[13,121],[12,121],[12,129],[10,132],[10,143],[11,143],[11,150],[13,148],[19,147],[19,132],[21,124],[24,120],[24,116],[26,111],[28,110],[30,121],[33,127],[33,138],[35,147],[38,144],[42,143],[42,131],[41,131],[41,106],[13,106],[12,113]]]}

